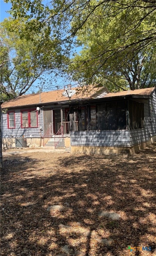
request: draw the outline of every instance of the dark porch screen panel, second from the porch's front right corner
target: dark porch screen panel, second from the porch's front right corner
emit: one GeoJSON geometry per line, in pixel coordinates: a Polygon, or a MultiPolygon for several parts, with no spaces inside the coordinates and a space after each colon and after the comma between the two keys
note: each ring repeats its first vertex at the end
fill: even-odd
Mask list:
{"type": "Polygon", "coordinates": [[[116,102],[107,103],[107,129],[117,130],[117,107],[116,102]]]}

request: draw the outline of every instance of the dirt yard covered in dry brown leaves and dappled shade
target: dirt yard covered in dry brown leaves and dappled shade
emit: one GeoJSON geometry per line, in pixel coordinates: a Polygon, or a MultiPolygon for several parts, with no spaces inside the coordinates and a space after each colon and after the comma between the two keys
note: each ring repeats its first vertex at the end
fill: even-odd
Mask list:
{"type": "Polygon", "coordinates": [[[155,170],[156,143],[133,156],[4,156],[1,255],[156,255],[155,170]]]}

